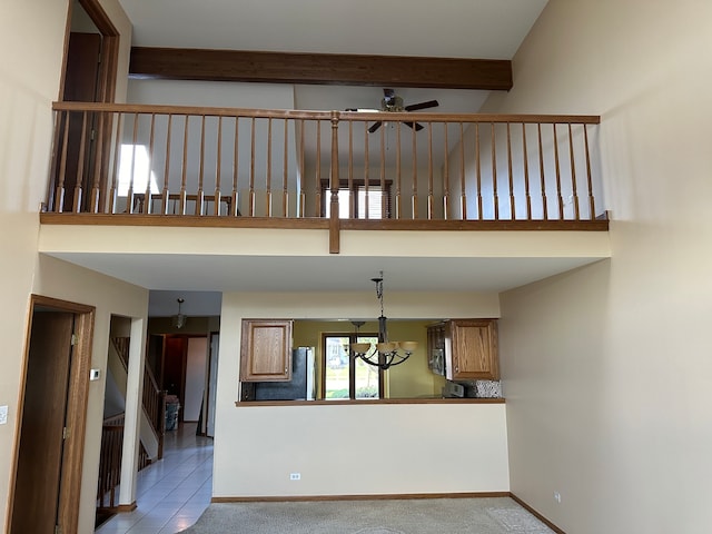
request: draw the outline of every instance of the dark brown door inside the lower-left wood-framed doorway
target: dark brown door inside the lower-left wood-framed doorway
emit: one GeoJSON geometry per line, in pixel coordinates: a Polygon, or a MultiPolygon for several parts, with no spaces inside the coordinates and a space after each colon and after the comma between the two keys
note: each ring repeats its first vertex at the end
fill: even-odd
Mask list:
{"type": "Polygon", "coordinates": [[[75,316],[36,312],[27,379],[10,532],[51,533],[59,523],[63,428],[75,316]]]}

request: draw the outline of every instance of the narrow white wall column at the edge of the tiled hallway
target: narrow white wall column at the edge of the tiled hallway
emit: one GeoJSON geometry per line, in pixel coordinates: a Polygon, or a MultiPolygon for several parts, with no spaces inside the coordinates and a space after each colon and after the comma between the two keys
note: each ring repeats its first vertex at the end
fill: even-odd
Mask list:
{"type": "Polygon", "coordinates": [[[131,320],[129,369],[126,384],[126,418],[123,423],[123,452],[121,455],[121,486],[119,506],[132,507],[136,503],[136,474],[138,472],[139,415],[144,390],[144,347],[146,325],[144,319],[131,320]]]}

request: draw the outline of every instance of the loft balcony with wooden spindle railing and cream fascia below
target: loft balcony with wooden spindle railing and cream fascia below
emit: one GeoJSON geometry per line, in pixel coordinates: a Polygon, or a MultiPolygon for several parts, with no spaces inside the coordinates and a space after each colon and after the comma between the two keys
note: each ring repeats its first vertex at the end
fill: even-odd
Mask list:
{"type": "Polygon", "coordinates": [[[92,254],[135,259],[141,238],[151,259],[185,265],[192,254],[491,257],[524,259],[530,279],[610,256],[595,116],[53,109],[40,251],[90,268],[108,263],[92,254]],[[82,244],[89,229],[105,235],[82,244]]]}

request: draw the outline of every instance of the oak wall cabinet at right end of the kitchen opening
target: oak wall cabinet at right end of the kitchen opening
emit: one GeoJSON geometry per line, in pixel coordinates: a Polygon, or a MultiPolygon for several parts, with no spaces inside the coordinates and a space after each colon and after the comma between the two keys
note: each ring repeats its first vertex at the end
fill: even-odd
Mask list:
{"type": "Polygon", "coordinates": [[[445,335],[448,379],[500,379],[496,328],[494,319],[448,322],[445,335]]]}

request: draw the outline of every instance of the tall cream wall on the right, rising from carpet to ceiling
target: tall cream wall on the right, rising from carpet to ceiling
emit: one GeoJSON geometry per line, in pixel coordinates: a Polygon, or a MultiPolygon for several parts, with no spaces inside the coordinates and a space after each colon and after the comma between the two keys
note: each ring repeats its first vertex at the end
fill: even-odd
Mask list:
{"type": "Polygon", "coordinates": [[[612,259],[502,297],[512,492],[566,532],[710,532],[711,20],[551,0],[487,105],[602,116],[612,259]]]}

